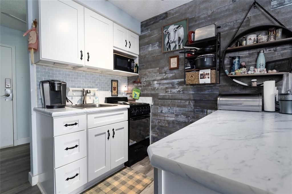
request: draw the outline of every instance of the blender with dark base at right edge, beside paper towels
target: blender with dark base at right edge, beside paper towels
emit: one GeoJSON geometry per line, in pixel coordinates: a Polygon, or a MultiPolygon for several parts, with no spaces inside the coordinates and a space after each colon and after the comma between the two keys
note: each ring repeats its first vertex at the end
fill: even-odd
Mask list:
{"type": "Polygon", "coordinates": [[[292,73],[283,74],[282,92],[278,95],[282,114],[292,114],[292,73]]]}

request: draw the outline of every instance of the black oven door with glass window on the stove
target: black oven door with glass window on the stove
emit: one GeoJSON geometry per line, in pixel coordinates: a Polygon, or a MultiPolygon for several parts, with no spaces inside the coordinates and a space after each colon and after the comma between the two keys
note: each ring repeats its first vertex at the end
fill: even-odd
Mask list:
{"type": "Polygon", "coordinates": [[[150,114],[129,119],[129,145],[149,139],[150,114]]]}

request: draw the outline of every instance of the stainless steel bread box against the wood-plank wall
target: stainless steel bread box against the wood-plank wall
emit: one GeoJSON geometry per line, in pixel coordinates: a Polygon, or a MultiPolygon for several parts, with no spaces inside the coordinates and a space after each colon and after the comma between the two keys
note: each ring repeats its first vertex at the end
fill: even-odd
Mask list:
{"type": "Polygon", "coordinates": [[[218,110],[262,112],[262,94],[219,94],[218,110]]]}

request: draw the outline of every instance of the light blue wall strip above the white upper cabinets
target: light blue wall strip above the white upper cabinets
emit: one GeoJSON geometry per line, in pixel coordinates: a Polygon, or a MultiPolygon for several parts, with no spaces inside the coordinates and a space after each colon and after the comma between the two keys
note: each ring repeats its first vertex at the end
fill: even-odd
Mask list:
{"type": "MultiPolygon", "coordinates": [[[[97,11],[101,15],[107,17],[110,20],[124,26],[125,28],[140,34],[141,33],[141,22],[127,14],[117,6],[109,3],[105,0],[78,0],[79,3],[97,11]]],[[[137,11],[137,10],[136,10],[137,11]]]]}

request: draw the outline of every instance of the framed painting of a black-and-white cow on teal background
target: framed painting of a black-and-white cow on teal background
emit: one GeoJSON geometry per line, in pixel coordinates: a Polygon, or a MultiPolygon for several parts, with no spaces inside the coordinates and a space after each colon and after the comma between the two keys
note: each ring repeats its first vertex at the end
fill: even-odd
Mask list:
{"type": "Polygon", "coordinates": [[[181,50],[187,42],[188,18],[162,27],[162,53],[181,50]]]}

